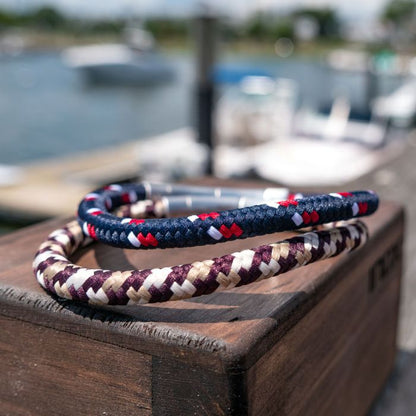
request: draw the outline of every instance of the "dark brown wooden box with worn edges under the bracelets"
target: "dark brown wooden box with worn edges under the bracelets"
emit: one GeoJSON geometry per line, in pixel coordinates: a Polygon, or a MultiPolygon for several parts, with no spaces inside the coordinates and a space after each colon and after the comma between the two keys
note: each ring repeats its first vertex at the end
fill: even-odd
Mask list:
{"type": "MultiPolygon", "coordinates": [[[[58,301],[31,271],[62,220],[0,239],[4,415],[362,415],[396,352],[403,211],[383,203],[360,250],[228,292],[135,308],[58,301]]],[[[282,239],[75,260],[167,266],[282,239]]]]}

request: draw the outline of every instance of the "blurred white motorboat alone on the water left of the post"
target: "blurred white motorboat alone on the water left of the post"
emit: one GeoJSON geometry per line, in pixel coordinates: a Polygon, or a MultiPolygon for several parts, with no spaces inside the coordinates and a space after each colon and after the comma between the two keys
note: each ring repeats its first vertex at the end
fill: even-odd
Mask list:
{"type": "Polygon", "coordinates": [[[151,85],[170,81],[175,70],[154,50],[154,39],[142,29],[129,29],[127,43],[74,46],[62,58],[88,81],[107,84],[151,85]]]}

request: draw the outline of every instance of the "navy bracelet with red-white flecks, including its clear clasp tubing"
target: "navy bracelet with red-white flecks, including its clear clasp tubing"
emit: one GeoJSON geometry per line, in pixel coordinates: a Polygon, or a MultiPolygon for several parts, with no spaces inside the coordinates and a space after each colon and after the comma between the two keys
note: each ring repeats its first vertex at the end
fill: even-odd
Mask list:
{"type": "Polygon", "coordinates": [[[88,194],[79,205],[78,217],[84,233],[95,240],[122,248],[152,249],[215,244],[295,230],[369,215],[378,207],[378,197],[371,191],[306,197],[289,195],[284,201],[282,196],[287,198],[287,192],[273,188],[241,191],[146,183],[110,185],[88,194]],[[246,192],[247,197],[243,198],[246,192]],[[185,195],[181,196],[181,193],[185,195]],[[256,200],[262,203],[179,218],[144,220],[118,218],[109,213],[110,209],[123,204],[157,195],[165,195],[160,200],[158,217],[183,211],[185,207],[210,210],[218,209],[218,206],[219,209],[241,207],[256,200]],[[264,198],[270,197],[280,202],[263,202],[264,198]]]}

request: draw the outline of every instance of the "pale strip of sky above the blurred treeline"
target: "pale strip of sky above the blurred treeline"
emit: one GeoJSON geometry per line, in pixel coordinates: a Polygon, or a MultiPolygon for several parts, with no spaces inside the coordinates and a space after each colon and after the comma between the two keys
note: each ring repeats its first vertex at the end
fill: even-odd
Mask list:
{"type": "MultiPolygon", "coordinates": [[[[349,19],[377,17],[387,0],[204,0],[221,13],[244,18],[258,8],[290,10],[298,6],[331,6],[349,19]]],[[[74,15],[120,16],[141,15],[188,16],[201,0],[0,0],[0,7],[24,10],[42,4],[51,4],[74,15]]]]}

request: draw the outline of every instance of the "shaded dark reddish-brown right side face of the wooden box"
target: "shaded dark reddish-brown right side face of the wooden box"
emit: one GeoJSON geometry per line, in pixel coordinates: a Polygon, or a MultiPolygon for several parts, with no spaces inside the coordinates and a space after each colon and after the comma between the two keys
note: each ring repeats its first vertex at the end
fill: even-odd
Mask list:
{"type": "MultiPolygon", "coordinates": [[[[401,245],[391,241],[395,237],[386,239],[387,247],[401,245]]],[[[250,414],[366,413],[394,360],[401,262],[396,259],[386,284],[369,293],[373,259],[365,254],[248,370],[247,384],[256,386],[249,393],[250,414]]]]}

